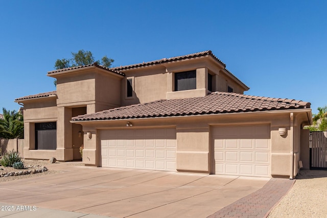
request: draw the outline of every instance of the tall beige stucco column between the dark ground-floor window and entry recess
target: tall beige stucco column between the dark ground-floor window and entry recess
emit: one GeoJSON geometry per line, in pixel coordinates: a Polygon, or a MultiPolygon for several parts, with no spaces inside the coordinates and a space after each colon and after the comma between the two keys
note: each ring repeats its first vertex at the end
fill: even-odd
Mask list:
{"type": "Polygon", "coordinates": [[[57,159],[73,160],[72,108],[58,107],[57,121],[57,159]]]}

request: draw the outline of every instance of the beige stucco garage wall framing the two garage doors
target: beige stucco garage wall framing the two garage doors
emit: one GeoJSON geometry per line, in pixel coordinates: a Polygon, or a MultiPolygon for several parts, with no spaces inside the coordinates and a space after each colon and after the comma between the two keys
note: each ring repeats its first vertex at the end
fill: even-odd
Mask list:
{"type": "MultiPolygon", "coordinates": [[[[295,115],[296,116],[296,115],[295,115]]],[[[176,128],[176,169],[182,172],[214,173],[214,154],[211,139],[211,127],[235,125],[269,125],[270,126],[270,173],[272,177],[293,177],[297,173],[300,142],[300,126],[303,117],[295,119],[291,128],[290,113],[256,112],[192,117],[169,117],[129,120],[132,128],[176,128]],[[294,127],[295,126],[295,127],[294,127]],[[280,135],[278,129],[287,128],[286,135],[280,135]],[[291,131],[291,129],[293,131],[291,131]],[[293,134],[294,133],[294,134],[293,134]],[[294,145],[292,144],[294,143],[294,145]],[[295,153],[292,150],[295,148],[295,153]]],[[[83,163],[101,165],[100,142],[95,139],[100,129],[126,128],[127,120],[110,120],[105,122],[83,123],[84,148],[83,163]],[[92,132],[92,139],[85,140],[86,131],[92,132]]]]}

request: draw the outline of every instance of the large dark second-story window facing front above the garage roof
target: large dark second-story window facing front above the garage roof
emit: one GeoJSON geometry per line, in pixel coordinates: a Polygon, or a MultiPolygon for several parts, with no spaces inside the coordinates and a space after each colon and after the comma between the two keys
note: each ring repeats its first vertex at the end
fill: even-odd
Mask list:
{"type": "Polygon", "coordinates": [[[175,73],[175,91],[196,89],[196,70],[175,73]]]}

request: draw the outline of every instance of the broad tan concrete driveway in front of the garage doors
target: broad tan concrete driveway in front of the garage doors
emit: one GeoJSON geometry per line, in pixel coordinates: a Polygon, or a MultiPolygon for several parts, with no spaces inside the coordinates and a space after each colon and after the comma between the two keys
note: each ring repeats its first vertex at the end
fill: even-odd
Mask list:
{"type": "Polygon", "coordinates": [[[76,162],[49,168],[64,173],[0,183],[0,203],[112,217],[207,217],[269,181],[76,162]]]}

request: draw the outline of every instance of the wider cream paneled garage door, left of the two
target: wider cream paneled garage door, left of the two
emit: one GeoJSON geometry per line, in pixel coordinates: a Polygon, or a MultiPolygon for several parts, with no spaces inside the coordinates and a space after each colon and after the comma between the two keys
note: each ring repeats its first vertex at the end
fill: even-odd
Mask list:
{"type": "Polygon", "coordinates": [[[176,171],[176,130],[102,130],[102,166],[176,171]]]}

